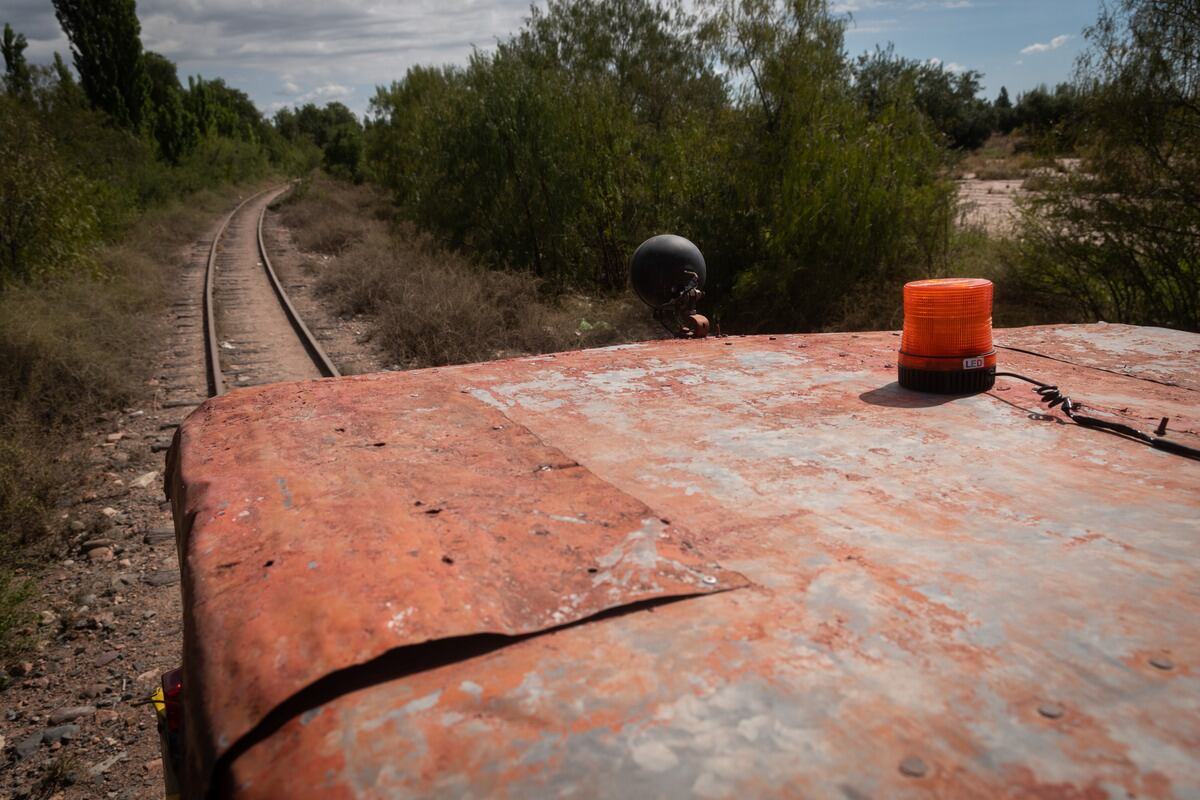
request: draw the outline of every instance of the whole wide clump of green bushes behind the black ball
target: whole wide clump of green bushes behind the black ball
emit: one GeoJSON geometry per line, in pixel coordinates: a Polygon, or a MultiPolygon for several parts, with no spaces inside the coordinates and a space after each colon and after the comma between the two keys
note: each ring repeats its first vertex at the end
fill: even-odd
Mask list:
{"type": "Polygon", "coordinates": [[[551,290],[620,290],[672,230],[727,325],[821,329],[847,294],[940,269],[954,212],[912,86],[868,107],[844,25],[820,0],[551,2],[466,68],[380,88],[368,174],[443,243],[551,290]]]}

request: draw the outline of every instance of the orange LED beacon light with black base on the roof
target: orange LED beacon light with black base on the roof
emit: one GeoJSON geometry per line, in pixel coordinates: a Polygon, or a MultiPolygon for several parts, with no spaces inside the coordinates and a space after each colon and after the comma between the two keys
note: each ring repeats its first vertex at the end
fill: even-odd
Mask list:
{"type": "Polygon", "coordinates": [[[937,278],[904,287],[900,385],[964,395],[996,383],[991,344],[991,281],[937,278]]]}

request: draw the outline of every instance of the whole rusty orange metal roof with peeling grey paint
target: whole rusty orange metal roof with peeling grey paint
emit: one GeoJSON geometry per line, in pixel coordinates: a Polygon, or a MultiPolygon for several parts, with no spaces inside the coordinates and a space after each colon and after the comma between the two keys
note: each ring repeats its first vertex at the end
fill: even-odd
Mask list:
{"type": "MultiPolygon", "coordinates": [[[[281,384],[182,426],[193,781],[246,798],[1195,796],[1200,463],[894,333],[281,384]]],[[[997,331],[1200,441],[1200,336],[997,331]]],[[[1034,354],[1036,353],[1036,354],[1034,354]]]]}

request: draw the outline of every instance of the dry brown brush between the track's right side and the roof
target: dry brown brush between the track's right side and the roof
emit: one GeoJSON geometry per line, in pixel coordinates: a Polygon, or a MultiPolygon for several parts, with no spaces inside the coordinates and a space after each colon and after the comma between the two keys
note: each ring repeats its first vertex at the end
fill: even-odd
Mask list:
{"type": "Polygon", "coordinates": [[[661,336],[630,299],[548,297],[526,272],[486,270],[406,223],[361,186],[318,180],[282,207],[317,290],[340,314],[366,314],[404,367],[468,363],[661,336]]]}

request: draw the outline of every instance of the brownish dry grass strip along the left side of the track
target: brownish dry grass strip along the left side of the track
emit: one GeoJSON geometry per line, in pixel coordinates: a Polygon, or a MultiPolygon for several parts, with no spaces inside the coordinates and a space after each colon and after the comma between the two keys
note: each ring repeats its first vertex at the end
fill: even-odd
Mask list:
{"type": "Polygon", "coordinates": [[[77,426],[139,391],[180,249],[232,194],[200,192],[146,213],[96,254],[96,270],[0,294],[0,650],[16,646],[28,595],[5,570],[44,559],[50,512],[78,474],[77,426]]]}

